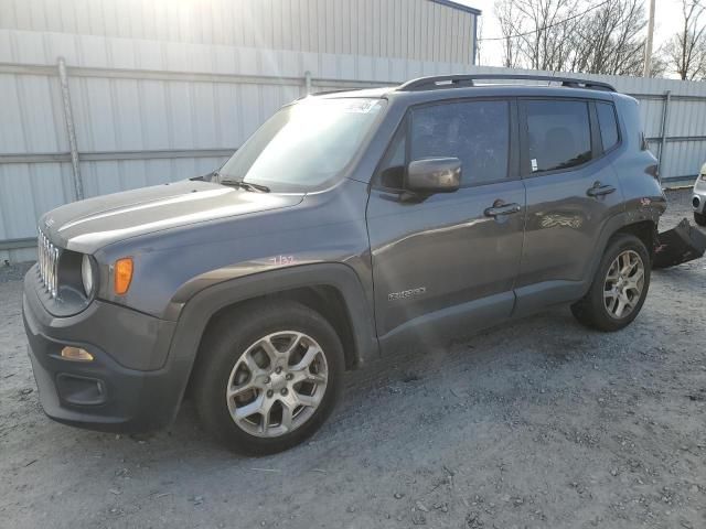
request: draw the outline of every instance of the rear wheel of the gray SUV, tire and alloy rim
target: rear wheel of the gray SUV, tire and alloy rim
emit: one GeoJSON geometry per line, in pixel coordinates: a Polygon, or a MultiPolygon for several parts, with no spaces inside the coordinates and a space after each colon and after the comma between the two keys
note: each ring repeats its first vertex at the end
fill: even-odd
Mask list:
{"type": "Polygon", "coordinates": [[[598,331],[614,332],[625,327],[642,309],[650,288],[651,268],[650,253],[642,240],[630,234],[614,236],[608,244],[588,293],[571,305],[574,316],[598,331]],[[621,261],[618,261],[619,257],[621,261]],[[630,266],[634,268],[628,270],[630,266]]]}

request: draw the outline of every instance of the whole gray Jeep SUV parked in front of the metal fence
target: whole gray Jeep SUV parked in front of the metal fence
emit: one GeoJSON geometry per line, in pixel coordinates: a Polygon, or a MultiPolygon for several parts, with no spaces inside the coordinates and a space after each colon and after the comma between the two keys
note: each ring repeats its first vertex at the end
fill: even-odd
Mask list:
{"type": "Polygon", "coordinates": [[[304,97],[208,176],[44,215],[23,312],[46,413],[146,431],[191,395],[228,446],[272,453],[396,346],[560,303],[632,322],[665,209],[638,102],[489,77],[304,97]]]}

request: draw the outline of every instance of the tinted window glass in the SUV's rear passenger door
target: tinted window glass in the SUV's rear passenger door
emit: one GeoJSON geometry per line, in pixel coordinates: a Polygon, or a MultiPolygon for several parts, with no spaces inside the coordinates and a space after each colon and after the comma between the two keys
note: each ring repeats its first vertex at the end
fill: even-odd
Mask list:
{"type": "Polygon", "coordinates": [[[591,128],[586,101],[528,100],[525,109],[532,173],[566,170],[591,160],[591,128]]]}

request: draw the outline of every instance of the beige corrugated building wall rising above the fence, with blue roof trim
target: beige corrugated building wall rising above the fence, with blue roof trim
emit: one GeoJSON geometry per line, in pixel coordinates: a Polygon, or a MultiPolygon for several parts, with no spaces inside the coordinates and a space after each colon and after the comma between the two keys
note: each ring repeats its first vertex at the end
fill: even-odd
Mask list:
{"type": "Polygon", "coordinates": [[[432,0],[2,0],[0,28],[473,62],[475,14],[432,0]]]}

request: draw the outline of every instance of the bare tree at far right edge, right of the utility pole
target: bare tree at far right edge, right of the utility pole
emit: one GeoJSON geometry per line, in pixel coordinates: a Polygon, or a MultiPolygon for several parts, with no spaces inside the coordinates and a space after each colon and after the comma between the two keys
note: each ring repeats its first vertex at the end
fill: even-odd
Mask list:
{"type": "Polygon", "coordinates": [[[706,77],[706,23],[703,14],[702,0],[682,0],[682,29],[665,46],[670,65],[683,80],[706,77]]]}

